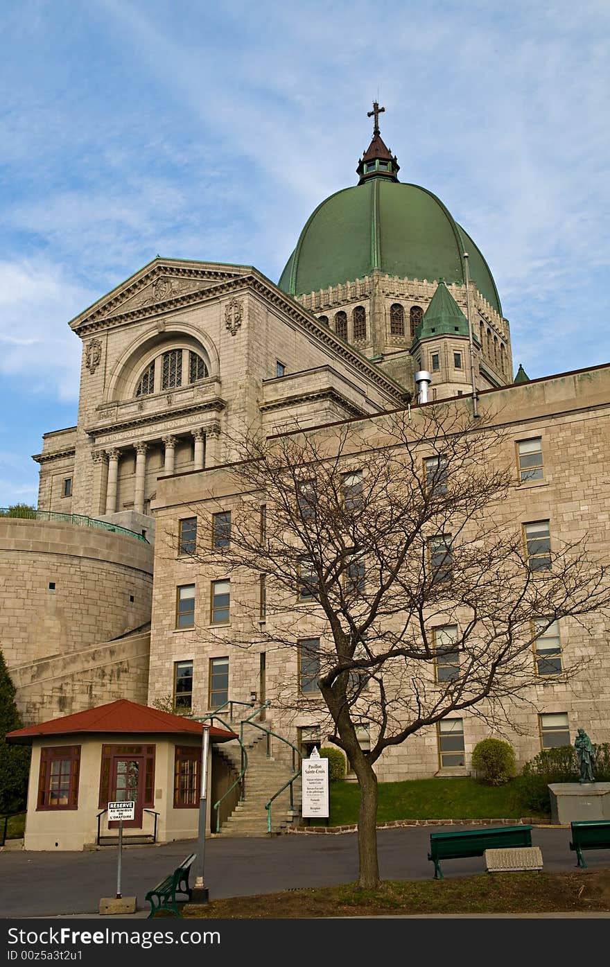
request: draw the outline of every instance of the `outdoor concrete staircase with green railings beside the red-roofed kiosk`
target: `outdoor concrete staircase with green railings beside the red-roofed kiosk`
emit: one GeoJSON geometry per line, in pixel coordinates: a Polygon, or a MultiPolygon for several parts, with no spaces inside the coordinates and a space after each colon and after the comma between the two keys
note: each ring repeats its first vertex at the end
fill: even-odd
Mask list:
{"type": "MultiPolygon", "coordinates": [[[[266,727],[272,726],[266,722],[266,727]]],[[[250,737],[245,736],[247,747],[246,799],[238,803],[229,818],[220,826],[221,836],[266,836],[267,831],[267,803],[280,786],[293,773],[289,764],[267,758],[266,737],[258,729],[248,729],[250,737]]],[[[272,736],[272,743],[279,740],[272,736]]],[[[274,747],[272,746],[272,752],[274,747]]],[[[241,771],[241,748],[239,743],[225,743],[218,747],[220,755],[235,770],[239,776],[241,771]]],[[[301,808],[301,777],[294,783],[293,793],[294,812],[290,811],[290,790],[285,789],[274,800],[272,805],[272,835],[282,833],[286,826],[292,823],[301,808]]]]}

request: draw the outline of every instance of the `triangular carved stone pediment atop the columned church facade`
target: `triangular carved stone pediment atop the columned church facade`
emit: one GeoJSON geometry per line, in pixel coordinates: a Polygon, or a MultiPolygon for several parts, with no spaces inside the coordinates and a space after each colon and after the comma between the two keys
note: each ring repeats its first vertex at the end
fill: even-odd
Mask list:
{"type": "Polygon", "coordinates": [[[91,323],[113,320],[131,312],[154,313],[158,307],[167,308],[169,303],[184,296],[203,293],[251,271],[249,266],[242,265],[157,258],[77,315],[70,325],[78,332],[91,323]]]}

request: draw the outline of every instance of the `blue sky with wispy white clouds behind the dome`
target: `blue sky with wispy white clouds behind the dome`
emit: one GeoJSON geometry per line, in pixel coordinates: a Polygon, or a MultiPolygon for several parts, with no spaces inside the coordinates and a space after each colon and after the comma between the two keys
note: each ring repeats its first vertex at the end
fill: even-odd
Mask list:
{"type": "Polygon", "coordinates": [[[276,280],[355,183],[400,179],[485,255],[531,377],[610,361],[610,5],[4,0],[0,506],[74,425],[78,311],[157,253],[276,280]]]}

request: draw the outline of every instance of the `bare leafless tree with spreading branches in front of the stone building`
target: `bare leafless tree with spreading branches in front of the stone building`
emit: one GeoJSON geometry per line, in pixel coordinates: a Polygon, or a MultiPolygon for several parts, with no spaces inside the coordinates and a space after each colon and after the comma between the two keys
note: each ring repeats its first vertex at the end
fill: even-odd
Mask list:
{"type": "MultiPolygon", "coordinates": [[[[306,709],[326,716],[356,773],[362,888],[379,883],[373,767],[384,750],[464,710],[499,727],[512,703],[532,700],[537,635],[610,602],[608,565],[586,536],[528,544],[503,513],[510,449],[451,404],[246,434],[241,459],[214,474],[223,496],[196,509],[204,530],[225,514],[198,542],[198,566],[242,586],[265,575],[266,623],[245,598],[232,643],[301,648],[306,709]]],[[[565,664],[563,678],[577,671],[565,664]]],[[[274,703],[305,707],[294,679],[274,703]]]]}

